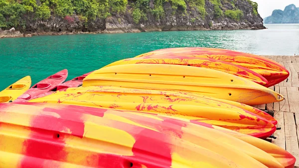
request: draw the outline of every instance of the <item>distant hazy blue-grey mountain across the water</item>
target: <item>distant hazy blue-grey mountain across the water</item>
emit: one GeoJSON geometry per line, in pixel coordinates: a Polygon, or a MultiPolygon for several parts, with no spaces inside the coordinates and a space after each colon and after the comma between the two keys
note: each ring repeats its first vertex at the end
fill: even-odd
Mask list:
{"type": "Polygon", "coordinates": [[[271,23],[299,23],[299,7],[295,4],[286,6],[285,10],[273,10],[272,15],[264,18],[265,24],[271,23]]]}

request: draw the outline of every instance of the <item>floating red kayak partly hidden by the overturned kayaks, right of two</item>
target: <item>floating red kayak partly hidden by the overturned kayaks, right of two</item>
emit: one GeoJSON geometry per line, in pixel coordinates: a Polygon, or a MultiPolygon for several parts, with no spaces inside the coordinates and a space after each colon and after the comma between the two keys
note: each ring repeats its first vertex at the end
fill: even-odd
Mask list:
{"type": "MultiPolygon", "coordinates": [[[[93,72],[93,71],[92,71],[93,72]]],[[[79,87],[80,85],[82,85],[82,82],[83,82],[83,79],[89,75],[90,73],[92,72],[88,72],[84,75],[81,75],[81,76],[78,76],[78,77],[75,77],[74,79],[72,80],[69,80],[69,81],[66,81],[60,85],[57,85],[55,86],[53,89],[43,93],[43,94],[40,94],[36,97],[34,97],[34,99],[36,98],[40,98],[40,97],[44,97],[44,96],[47,96],[47,95],[50,95],[56,91],[59,91],[59,90],[62,90],[62,89],[67,89],[67,88],[76,88],[76,87],[79,87]]]]}

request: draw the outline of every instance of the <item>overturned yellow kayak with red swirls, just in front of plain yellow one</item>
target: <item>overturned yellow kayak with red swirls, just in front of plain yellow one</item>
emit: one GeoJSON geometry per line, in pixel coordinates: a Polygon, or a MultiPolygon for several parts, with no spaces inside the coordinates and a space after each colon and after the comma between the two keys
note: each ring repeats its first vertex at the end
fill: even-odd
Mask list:
{"type": "MultiPolygon", "coordinates": [[[[77,104],[77,105],[87,105],[88,103],[90,103],[90,101],[93,101],[91,106],[96,106],[96,104],[94,104],[94,102],[96,101],[101,101],[100,99],[98,99],[97,97],[94,97],[96,94],[101,94],[101,96],[104,96],[104,94],[106,94],[106,96],[114,96],[115,94],[117,96],[120,95],[124,95],[124,96],[132,96],[132,99],[129,99],[129,102],[133,101],[133,103],[136,103],[136,101],[133,100],[133,96],[140,96],[142,98],[145,98],[145,100],[143,100],[143,103],[145,103],[145,101],[148,100],[148,97],[152,97],[152,96],[159,96],[160,99],[164,100],[166,98],[167,102],[166,103],[180,103],[180,104],[188,104],[188,105],[199,105],[197,102],[202,102],[204,105],[206,105],[207,103],[209,103],[210,107],[216,107],[216,108],[224,108],[225,110],[230,109],[230,110],[234,110],[234,111],[248,111],[251,112],[255,115],[258,115],[268,121],[270,121],[272,124],[277,125],[277,120],[272,117],[271,115],[269,115],[268,113],[256,109],[252,106],[248,106],[242,103],[238,103],[238,102],[233,102],[233,101],[225,101],[222,99],[215,99],[212,97],[208,97],[208,96],[203,96],[203,95],[199,95],[199,94],[195,94],[195,93],[189,93],[189,92],[181,92],[181,91],[162,91],[162,90],[150,90],[149,89],[130,89],[130,88],[123,88],[123,87],[112,87],[112,86],[95,86],[95,87],[82,87],[82,88],[78,88],[78,89],[67,89],[64,90],[62,93],[58,92],[58,93],[54,93],[53,96],[51,97],[46,97],[45,99],[32,99],[30,100],[30,102],[48,102],[48,103],[67,103],[67,104],[77,104]],[[77,97],[76,94],[79,94],[79,97],[77,97]],[[81,95],[81,94],[84,94],[81,95]],[[110,94],[110,95],[109,95],[110,94]],[[129,95],[128,95],[129,94],[129,95]],[[65,101],[65,98],[60,99],[59,97],[62,97],[61,95],[70,95],[68,96],[67,99],[71,99],[72,102],[70,101],[65,101]],[[84,97],[86,95],[91,95],[91,97],[88,97],[86,100],[81,101],[83,99],[85,99],[84,97]],[[75,96],[75,99],[72,99],[72,96],[75,96]],[[163,97],[161,96],[165,96],[165,98],[163,99],[163,97]],[[58,100],[59,98],[59,100],[58,100]],[[174,99],[174,101],[172,101],[171,99],[174,99]],[[94,101],[95,100],[95,101],[94,101]],[[171,101],[168,101],[171,100],[171,101]],[[181,100],[185,100],[185,101],[181,101],[181,100]],[[78,101],[76,103],[76,101],[78,101]],[[83,103],[82,103],[83,102],[83,103]]],[[[137,97],[138,98],[138,97],[137,97]]],[[[136,99],[136,98],[134,98],[136,99]]],[[[104,99],[104,101],[109,101],[111,99],[104,99]]],[[[121,102],[122,100],[114,100],[114,102],[121,102]]],[[[124,101],[126,102],[126,101],[124,101]]],[[[154,103],[158,103],[159,100],[154,100],[154,103]]],[[[108,105],[107,107],[109,108],[115,108],[117,106],[115,105],[108,105]]],[[[123,108],[123,107],[121,107],[123,108]]],[[[131,107],[130,107],[131,108],[131,107]]],[[[135,109],[136,110],[136,109],[135,109]]]]}

